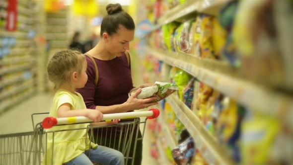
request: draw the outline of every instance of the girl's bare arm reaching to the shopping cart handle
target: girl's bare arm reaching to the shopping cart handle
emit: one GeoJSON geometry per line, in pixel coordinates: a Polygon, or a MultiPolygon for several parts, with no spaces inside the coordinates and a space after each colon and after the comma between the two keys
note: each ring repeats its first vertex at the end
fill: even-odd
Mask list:
{"type": "Polygon", "coordinates": [[[103,119],[103,113],[99,110],[94,109],[78,109],[72,110],[72,105],[70,103],[64,103],[58,108],[58,117],[75,117],[75,116],[85,116],[94,122],[99,122],[103,119]]]}

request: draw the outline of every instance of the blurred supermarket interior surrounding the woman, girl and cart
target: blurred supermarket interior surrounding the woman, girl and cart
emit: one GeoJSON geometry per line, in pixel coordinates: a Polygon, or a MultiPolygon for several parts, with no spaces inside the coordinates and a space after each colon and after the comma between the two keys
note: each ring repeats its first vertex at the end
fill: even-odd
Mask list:
{"type": "Polygon", "coordinates": [[[136,24],[134,86],[178,86],[139,110],[160,110],[142,165],[293,165],[292,0],[0,0],[0,159],[50,111],[48,60],[75,32],[97,44],[109,3],[136,24]]]}

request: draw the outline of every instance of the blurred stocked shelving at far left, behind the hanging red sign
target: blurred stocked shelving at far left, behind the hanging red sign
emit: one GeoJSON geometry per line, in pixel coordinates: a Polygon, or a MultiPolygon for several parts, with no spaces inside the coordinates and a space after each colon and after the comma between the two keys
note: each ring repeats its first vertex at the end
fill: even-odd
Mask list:
{"type": "Polygon", "coordinates": [[[36,2],[17,1],[17,29],[6,31],[8,1],[1,1],[0,113],[36,92],[36,2]]]}

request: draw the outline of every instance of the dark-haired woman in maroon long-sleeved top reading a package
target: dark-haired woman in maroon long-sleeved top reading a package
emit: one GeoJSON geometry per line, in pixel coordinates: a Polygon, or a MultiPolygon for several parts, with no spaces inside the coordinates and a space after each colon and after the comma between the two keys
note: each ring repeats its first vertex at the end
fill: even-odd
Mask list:
{"type": "MultiPolygon", "coordinates": [[[[152,84],[145,84],[140,88],[133,86],[131,70],[125,54],[125,51],[129,50],[130,41],[134,39],[135,24],[132,17],[123,11],[119,3],[108,4],[106,10],[108,15],[103,18],[101,24],[101,39],[93,49],[86,53],[93,57],[97,65],[98,83],[95,83],[94,63],[87,57],[88,81],[83,88],[78,90],[84,98],[86,107],[98,109],[103,114],[107,114],[133,111],[157,104],[156,102],[150,103],[156,99],[155,97],[136,98],[137,94],[141,92],[141,88],[152,84]],[[135,90],[137,90],[136,93],[129,97],[128,94],[135,90]]],[[[109,129],[109,131],[111,130],[109,129]]],[[[96,135],[96,132],[94,133],[96,135]]],[[[141,136],[139,131],[139,138],[141,136]]],[[[94,138],[96,140],[100,137],[94,138]]],[[[142,163],[142,145],[142,140],[137,142],[134,165],[142,163]]]]}

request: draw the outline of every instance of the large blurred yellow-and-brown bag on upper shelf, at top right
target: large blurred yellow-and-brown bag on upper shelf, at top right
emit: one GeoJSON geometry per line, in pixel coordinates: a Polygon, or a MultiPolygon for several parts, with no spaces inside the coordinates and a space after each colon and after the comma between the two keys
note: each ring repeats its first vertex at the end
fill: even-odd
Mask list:
{"type": "MultiPolygon", "coordinates": [[[[232,38],[242,64],[240,72],[246,79],[285,89],[284,86],[288,85],[286,80],[289,80],[286,78],[287,76],[291,78],[292,82],[293,60],[292,51],[291,58],[288,58],[281,53],[282,49],[278,45],[280,41],[277,39],[279,34],[276,29],[276,21],[279,20],[275,18],[274,5],[276,3],[278,2],[262,0],[239,2],[232,38]],[[285,59],[287,61],[290,59],[289,63],[285,59]],[[291,67],[290,75],[287,76],[285,76],[285,64],[289,64],[291,67]]],[[[286,21],[292,21],[292,17],[286,21]]],[[[284,29],[290,29],[290,27],[284,29]]],[[[290,31],[292,34],[292,30],[290,31]]],[[[293,89],[292,83],[290,88],[293,89]]]]}

